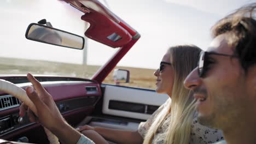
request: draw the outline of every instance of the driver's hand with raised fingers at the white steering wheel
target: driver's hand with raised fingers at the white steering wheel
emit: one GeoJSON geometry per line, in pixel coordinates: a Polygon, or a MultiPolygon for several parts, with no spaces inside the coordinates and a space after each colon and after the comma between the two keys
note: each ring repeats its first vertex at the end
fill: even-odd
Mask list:
{"type": "Polygon", "coordinates": [[[28,86],[26,88],[26,93],[36,106],[38,116],[34,115],[24,103],[20,105],[20,116],[25,116],[25,113],[27,112],[27,116],[30,118],[31,122],[39,121],[49,130],[53,130],[57,124],[65,122],[59,109],[57,109],[57,106],[54,103],[53,97],[45,90],[40,82],[30,73],[27,74],[27,79],[32,83],[34,88],[28,86]]]}

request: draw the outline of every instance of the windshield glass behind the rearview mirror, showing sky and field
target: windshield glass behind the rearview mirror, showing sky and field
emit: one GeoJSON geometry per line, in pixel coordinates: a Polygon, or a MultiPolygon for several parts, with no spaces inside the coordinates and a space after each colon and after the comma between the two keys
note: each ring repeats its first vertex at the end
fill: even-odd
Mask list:
{"type": "Polygon", "coordinates": [[[0,74],[32,74],[90,79],[118,49],[84,36],[84,13],[61,1],[1,1],[0,74]],[[30,23],[46,19],[53,27],[85,38],[83,50],[27,40],[30,23]]]}

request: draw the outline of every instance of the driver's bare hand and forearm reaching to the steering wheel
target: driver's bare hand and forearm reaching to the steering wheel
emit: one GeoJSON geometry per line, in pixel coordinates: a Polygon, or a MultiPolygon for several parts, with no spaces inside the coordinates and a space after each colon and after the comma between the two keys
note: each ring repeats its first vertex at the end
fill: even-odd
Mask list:
{"type": "MultiPolygon", "coordinates": [[[[51,97],[40,82],[31,74],[27,74],[27,78],[35,89],[28,86],[26,93],[28,98],[30,98],[32,103],[36,106],[38,115],[36,118],[30,110],[30,107],[27,107],[24,103],[20,106],[20,115],[24,116],[24,113],[27,111],[28,117],[30,117],[32,121],[38,119],[39,122],[56,135],[62,143],[77,143],[81,134],[65,122],[65,119],[61,116],[59,109],[57,109],[54,103],[53,97],[51,97]]],[[[90,143],[94,142],[91,141],[90,143]]]]}

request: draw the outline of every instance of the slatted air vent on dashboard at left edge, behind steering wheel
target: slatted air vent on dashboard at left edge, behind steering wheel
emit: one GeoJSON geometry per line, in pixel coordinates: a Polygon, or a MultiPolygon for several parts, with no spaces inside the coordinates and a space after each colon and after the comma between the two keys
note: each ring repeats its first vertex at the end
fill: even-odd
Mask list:
{"type": "Polygon", "coordinates": [[[0,96],[0,111],[16,107],[21,104],[20,100],[13,97],[12,95],[0,96]]]}

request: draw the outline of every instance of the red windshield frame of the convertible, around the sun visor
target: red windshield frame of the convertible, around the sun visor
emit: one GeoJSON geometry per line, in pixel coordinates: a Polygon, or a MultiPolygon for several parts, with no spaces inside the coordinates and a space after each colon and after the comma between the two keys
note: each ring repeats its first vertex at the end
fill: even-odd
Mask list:
{"type": "MultiPolygon", "coordinates": [[[[127,32],[131,35],[131,39],[127,38],[127,41],[126,41],[127,43],[124,42],[124,43],[120,43],[121,45],[119,44],[119,45],[114,45],[114,46],[113,46],[113,44],[106,44],[106,45],[109,45],[112,47],[118,46],[119,50],[115,53],[114,56],[112,56],[112,58],[109,59],[109,61],[106,64],[104,64],[100,68],[100,70],[98,70],[96,72],[96,74],[94,76],[92,76],[92,80],[95,80],[98,83],[102,83],[102,81],[114,69],[114,67],[121,60],[121,58],[123,58],[126,55],[126,53],[132,48],[132,46],[138,41],[138,39],[141,37],[141,35],[139,35],[139,33],[135,29],[133,29],[125,21],[120,19],[120,17],[118,17],[117,15],[112,13],[112,11],[110,11],[108,8],[106,8],[103,4],[101,4],[97,0],[63,0],[63,1],[71,4],[73,7],[77,8],[78,10],[83,11],[83,13],[85,13],[85,15],[82,16],[82,20],[89,21],[89,22],[93,23],[94,21],[96,21],[96,17],[98,15],[102,15],[101,21],[103,23],[104,22],[109,23],[109,21],[112,21],[113,26],[114,25],[120,26],[120,27],[115,26],[115,29],[113,29],[114,31],[123,31],[123,33],[127,32]],[[88,3],[90,3],[90,4],[88,4],[88,3]],[[88,5],[86,5],[86,4],[88,4],[88,5]],[[91,5],[93,5],[93,6],[91,6],[91,5]],[[93,17],[92,18],[90,17],[90,20],[86,19],[87,13],[95,13],[94,14],[95,20],[93,17]],[[105,21],[104,21],[104,19],[105,19],[105,21]]],[[[91,28],[89,28],[89,29],[91,29],[91,28]]],[[[94,31],[97,31],[97,30],[94,30],[94,31]]],[[[91,35],[90,35],[85,32],[85,35],[87,34],[86,36],[88,36],[88,38],[94,39],[101,43],[102,41],[97,40],[98,38],[95,38],[96,36],[92,35],[92,33],[93,32],[91,32],[91,35]]]]}

